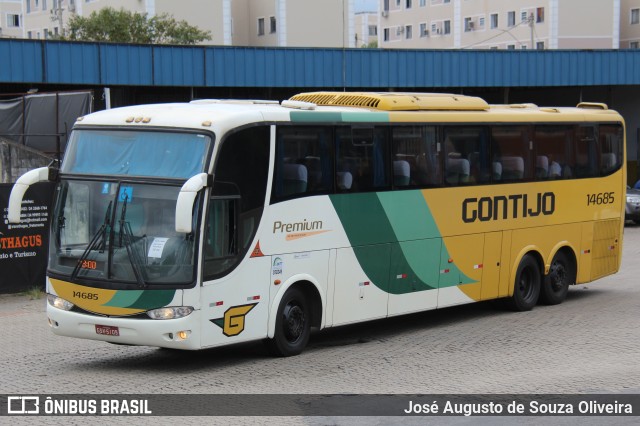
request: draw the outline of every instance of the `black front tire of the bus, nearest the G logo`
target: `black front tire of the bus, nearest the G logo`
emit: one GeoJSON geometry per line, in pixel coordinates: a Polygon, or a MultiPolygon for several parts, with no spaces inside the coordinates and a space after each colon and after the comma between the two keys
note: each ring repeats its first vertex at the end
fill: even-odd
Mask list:
{"type": "Polygon", "coordinates": [[[307,346],[311,335],[311,316],[307,298],[300,289],[287,290],[278,306],[273,339],[266,341],[276,356],[298,355],[307,346]]]}

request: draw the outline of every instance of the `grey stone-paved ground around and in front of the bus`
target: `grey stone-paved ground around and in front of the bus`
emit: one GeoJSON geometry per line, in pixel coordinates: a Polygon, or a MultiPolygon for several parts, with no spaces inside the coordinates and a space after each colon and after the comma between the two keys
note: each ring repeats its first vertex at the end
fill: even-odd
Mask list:
{"type": "MultiPolygon", "coordinates": [[[[339,327],[314,334],[307,350],[292,358],[271,358],[260,343],[176,352],[59,337],[47,325],[44,299],[2,295],[0,393],[640,393],[638,277],[640,226],[629,225],[621,271],[572,287],[561,305],[513,313],[478,303],[339,327]]],[[[94,419],[107,422],[106,418],[94,419]]],[[[598,419],[593,424],[631,424],[625,418],[591,419],[598,419]]],[[[0,417],[0,424],[7,420],[0,417]]],[[[86,424],[85,420],[14,417],[11,424],[75,425],[86,424]]],[[[109,418],[108,423],[138,423],[133,420],[109,418]]],[[[138,420],[144,424],[238,425],[421,421],[338,417],[138,420]]],[[[474,424],[506,424],[504,418],[490,420],[473,419],[474,424]]],[[[523,424],[551,422],[550,418],[519,420],[523,424]]],[[[549,424],[590,424],[579,418],[553,420],[549,424]]],[[[471,419],[444,420],[454,425],[468,421],[471,419]]]]}

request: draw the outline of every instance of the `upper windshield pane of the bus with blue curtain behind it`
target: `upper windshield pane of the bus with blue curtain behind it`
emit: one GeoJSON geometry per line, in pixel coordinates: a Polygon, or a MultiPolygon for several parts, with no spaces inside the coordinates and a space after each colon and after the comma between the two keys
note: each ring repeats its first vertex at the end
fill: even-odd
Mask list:
{"type": "Polygon", "coordinates": [[[60,171],[188,179],[203,171],[210,141],[195,133],[74,130],[60,171]]]}

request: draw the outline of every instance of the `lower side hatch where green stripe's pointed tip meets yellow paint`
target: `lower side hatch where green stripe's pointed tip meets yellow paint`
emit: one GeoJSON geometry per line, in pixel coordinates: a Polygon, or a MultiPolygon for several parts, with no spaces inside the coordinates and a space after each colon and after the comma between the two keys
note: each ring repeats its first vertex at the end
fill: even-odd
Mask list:
{"type": "Polygon", "coordinates": [[[480,300],[484,234],[443,238],[438,308],[480,300]]]}

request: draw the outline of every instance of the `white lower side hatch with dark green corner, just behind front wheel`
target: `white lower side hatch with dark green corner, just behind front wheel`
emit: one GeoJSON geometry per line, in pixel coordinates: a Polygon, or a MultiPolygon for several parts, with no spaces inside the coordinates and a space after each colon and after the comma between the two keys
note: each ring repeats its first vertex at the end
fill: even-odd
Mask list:
{"type": "Polygon", "coordinates": [[[390,244],[337,250],[334,326],[387,316],[390,257],[390,244]]]}

